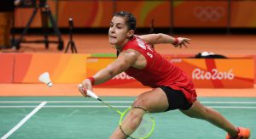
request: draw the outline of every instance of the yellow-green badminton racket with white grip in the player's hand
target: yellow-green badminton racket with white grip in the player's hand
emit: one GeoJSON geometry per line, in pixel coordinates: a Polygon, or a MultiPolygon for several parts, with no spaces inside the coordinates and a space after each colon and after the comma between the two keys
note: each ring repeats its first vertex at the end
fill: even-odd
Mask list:
{"type": "MultiPolygon", "coordinates": [[[[79,88],[81,87],[83,86],[79,85],[79,88]]],[[[146,109],[140,108],[140,107],[130,107],[125,109],[124,112],[121,112],[117,108],[113,108],[108,103],[103,102],[100,97],[96,96],[96,94],[94,92],[91,92],[90,90],[87,90],[86,95],[89,97],[93,97],[98,101],[101,101],[102,103],[107,105],[109,108],[112,108],[114,111],[120,114],[119,127],[120,127],[120,130],[125,134],[125,136],[135,138],[135,139],[137,138],[144,139],[152,135],[154,131],[155,121],[153,116],[149,114],[149,112],[146,109]],[[133,127],[131,125],[131,122],[129,121],[129,118],[126,117],[128,114],[131,114],[131,113],[143,114],[143,119],[138,120],[139,125],[137,126],[137,128],[133,127]]],[[[87,96],[84,96],[84,97],[87,97],[87,96]]]]}

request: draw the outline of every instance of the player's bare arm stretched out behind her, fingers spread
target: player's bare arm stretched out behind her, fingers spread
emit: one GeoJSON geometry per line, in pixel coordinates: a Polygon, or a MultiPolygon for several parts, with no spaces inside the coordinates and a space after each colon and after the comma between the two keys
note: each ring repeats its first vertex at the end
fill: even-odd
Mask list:
{"type": "Polygon", "coordinates": [[[148,34],[139,36],[143,39],[144,42],[148,42],[149,44],[158,44],[158,43],[171,43],[174,47],[187,47],[190,39],[185,37],[172,37],[166,34],[158,33],[158,34],[148,34]]]}

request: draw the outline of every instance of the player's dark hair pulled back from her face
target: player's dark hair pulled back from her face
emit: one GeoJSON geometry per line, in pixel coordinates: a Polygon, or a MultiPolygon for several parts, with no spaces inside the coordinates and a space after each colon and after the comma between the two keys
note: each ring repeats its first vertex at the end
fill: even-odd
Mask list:
{"type": "Polygon", "coordinates": [[[120,11],[120,12],[114,14],[113,16],[125,17],[125,19],[126,19],[125,24],[128,26],[128,29],[133,30],[133,31],[136,30],[137,21],[136,21],[135,16],[133,16],[131,13],[125,12],[125,11],[120,11]]]}

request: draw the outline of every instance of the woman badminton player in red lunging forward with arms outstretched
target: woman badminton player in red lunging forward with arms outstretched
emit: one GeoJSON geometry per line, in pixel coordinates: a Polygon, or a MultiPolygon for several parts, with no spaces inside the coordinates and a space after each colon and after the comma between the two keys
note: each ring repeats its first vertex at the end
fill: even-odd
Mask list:
{"type": "MultiPolygon", "coordinates": [[[[128,12],[114,14],[108,31],[109,43],[118,51],[118,58],[82,82],[79,91],[86,96],[86,89],[92,90],[93,85],[101,84],[113,76],[125,71],[144,86],[153,89],[140,94],[132,104],[150,113],[166,112],[179,109],[189,117],[207,120],[228,132],[227,138],[248,138],[249,129],[236,127],[212,108],[203,106],[196,99],[195,86],[182,69],[167,61],[149,44],[172,43],[175,47],[186,47],[188,38],[174,38],[164,34],[135,36],[136,18],[128,12]]],[[[141,119],[143,114],[129,115],[127,120],[141,119]]],[[[127,122],[131,126],[138,123],[127,122]],[[133,124],[133,125],[132,125],[133,124]]],[[[129,125],[122,125],[129,126],[129,125]]],[[[110,138],[126,138],[119,129],[113,131],[110,138]]]]}

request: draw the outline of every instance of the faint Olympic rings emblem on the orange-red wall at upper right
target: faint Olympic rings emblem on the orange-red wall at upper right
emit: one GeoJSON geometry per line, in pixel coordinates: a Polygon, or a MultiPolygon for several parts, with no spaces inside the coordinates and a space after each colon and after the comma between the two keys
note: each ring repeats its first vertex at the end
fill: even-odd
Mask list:
{"type": "Polygon", "coordinates": [[[201,21],[218,21],[224,16],[225,9],[223,7],[200,7],[197,6],[193,9],[193,14],[201,21]]]}

